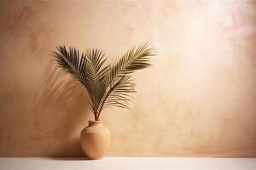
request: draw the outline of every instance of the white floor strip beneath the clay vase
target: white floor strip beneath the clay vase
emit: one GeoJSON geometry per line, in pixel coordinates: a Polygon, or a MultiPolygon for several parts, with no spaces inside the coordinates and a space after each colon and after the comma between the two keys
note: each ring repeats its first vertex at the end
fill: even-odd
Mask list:
{"type": "Polygon", "coordinates": [[[242,169],[256,170],[256,158],[163,158],[107,157],[98,161],[84,158],[0,158],[0,169],[242,169]]]}

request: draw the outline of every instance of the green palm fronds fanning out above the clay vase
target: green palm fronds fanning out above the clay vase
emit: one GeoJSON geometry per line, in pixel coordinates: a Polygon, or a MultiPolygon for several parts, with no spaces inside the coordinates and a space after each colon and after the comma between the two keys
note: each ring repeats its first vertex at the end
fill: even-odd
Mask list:
{"type": "Polygon", "coordinates": [[[115,65],[103,66],[107,58],[97,48],[81,54],[76,48],[58,46],[53,52],[57,65],[83,84],[95,121],[104,107],[129,108],[128,101],[135,93],[131,73],[150,66],[154,55],[154,49],[143,43],[128,50],[115,65]]]}

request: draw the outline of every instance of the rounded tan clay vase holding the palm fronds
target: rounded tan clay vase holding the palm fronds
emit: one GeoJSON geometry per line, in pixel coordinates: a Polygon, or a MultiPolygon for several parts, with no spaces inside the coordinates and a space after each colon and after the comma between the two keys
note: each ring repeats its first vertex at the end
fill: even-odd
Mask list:
{"type": "Polygon", "coordinates": [[[89,125],[81,131],[80,142],[89,159],[101,159],[108,150],[110,131],[102,121],[89,121],[89,125]]]}

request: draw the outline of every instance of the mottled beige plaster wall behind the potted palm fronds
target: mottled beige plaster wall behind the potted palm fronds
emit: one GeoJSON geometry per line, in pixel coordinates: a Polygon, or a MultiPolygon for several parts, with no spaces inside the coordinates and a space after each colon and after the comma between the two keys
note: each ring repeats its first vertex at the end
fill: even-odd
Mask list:
{"type": "Polygon", "coordinates": [[[0,37],[0,156],[83,155],[92,116],[56,45],[114,62],[146,41],[158,56],[131,110],[102,112],[108,156],[256,156],[255,1],[1,1],[0,37]]]}

